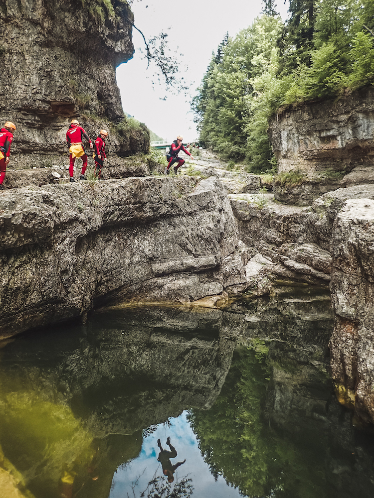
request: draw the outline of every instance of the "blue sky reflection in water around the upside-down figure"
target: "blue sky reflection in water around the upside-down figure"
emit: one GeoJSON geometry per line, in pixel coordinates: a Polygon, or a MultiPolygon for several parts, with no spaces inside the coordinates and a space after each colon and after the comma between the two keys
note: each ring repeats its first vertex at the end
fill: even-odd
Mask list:
{"type": "Polygon", "coordinates": [[[166,445],[168,436],[170,436],[171,443],[178,453],[177,457],[172,459],[172,463],[182,462],[186,458],[186,463],[178,467],[174,474],[175,483],[186,476],[192,479],[192,497],[239,497],[238,490],[227,486],[222,477],[218,477],[217,482],[214,481],[208,466],[201,457],[196,438],[187,422],[186,412],[183,412],[178,418],[172,418],[171,423],[171,427],[160,424],[153,434],[144,439],[139,457],[124,468],[117,470],[113,478],[114,486],[112,486],[109,498],[123,498],[127,496],[127,493],[129,493],[129,496],[133,496],[131,485],[142,475],[143,471],[144,473],[139,479],[136,488],[136,496],[139,496],[140,492],[147,488],[149,481],[153,479],[155,474],[156,476],[163,475],[161,464],[157,461],[159,454],[157,440],[160,438],[162,447],[169,449],[166,445]]]}

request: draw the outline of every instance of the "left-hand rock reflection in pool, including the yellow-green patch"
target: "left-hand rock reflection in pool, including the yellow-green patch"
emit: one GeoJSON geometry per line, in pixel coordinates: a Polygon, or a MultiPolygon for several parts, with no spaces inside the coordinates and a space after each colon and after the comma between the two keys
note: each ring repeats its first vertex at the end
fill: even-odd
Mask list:
{"type": "Polygon", "coordinates": [[[82,497],[108,496],[116,468],[139,454],[142,429],[214,402],[235,348],[234,318],[209,309],[112,310],[86,328],[4,345],[0,448],[27,488],[49,498],[60,482],[83,486],[82,497]],[[97,481],[82,457],[93,437],[104,454],[97,481]]]}

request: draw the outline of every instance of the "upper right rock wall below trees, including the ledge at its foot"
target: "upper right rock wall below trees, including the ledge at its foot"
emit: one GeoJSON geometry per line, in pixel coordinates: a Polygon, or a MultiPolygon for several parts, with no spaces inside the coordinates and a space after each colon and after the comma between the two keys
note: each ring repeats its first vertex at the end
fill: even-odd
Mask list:
{"type": "Polygon", "coordinates": [[[273,117],[269,135],[278,173],[298,173],[289,182],[275,182],[278,200],[307,206],[337,188],[374,182],[373,97],[367,87],[273,117]]]}

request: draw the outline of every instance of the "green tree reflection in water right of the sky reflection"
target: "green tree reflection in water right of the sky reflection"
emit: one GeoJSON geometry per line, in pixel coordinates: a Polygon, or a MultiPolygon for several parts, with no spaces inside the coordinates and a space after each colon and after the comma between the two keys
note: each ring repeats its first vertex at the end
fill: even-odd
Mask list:
{"type": "Polygon", "coordinates": [[[325,497],[323,458],[315,454],[313,462],[307,448],[264,423],[269,368],[266,349],[256,349],[237,350],[213,407],[188,415],[204,461],[215,479],[223,476],[243,496],[325,497]]]}

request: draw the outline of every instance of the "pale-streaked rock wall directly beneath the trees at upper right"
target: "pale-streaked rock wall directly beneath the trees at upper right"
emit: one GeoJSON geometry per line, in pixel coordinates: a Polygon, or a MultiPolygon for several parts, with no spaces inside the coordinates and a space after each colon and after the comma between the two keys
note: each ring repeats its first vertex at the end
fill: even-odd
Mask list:
{"type": "Polygon", "coordinates": [[[374,90],[289,107],[275,115],[269,133],[278,172],[351,171],[374,166],[374,90]]]}

